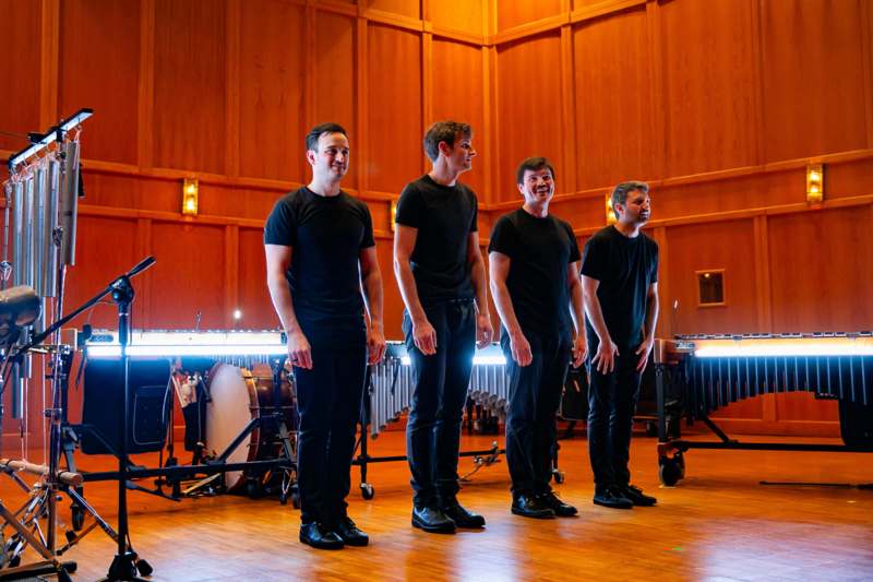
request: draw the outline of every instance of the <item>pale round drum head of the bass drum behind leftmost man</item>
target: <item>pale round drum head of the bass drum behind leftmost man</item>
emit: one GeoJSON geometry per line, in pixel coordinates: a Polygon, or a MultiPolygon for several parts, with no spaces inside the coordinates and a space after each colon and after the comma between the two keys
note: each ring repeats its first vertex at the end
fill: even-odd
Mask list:
{"type": "MultiPolygon", "coordinates": [[[[206,408],[206,449],[211,455],[222,454],[252,419],[249,382],[251,375],[236,366],[217,364],[210,373],[210,402],[206,408]]],[[[253,390],[253,389],[252,389],[253,390]]],[[[250,460],[251,436],[227,458],[228,463],[250,460]]],[[[244,482],[241,471],[225,473],[228,490],[244,482]]]]}

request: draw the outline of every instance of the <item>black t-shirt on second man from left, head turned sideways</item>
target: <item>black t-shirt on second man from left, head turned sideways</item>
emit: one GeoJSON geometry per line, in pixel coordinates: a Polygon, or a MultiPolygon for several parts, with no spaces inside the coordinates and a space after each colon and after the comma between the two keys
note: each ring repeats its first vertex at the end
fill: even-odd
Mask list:
{"type": "Polygon", "coordinates": [[[476,194],[467,186],[443,186],[424,175],[397,200],[397,224],[418,228],[410,263],[422,305],[473,299],[467,239],[477,229],[476,194]]]}

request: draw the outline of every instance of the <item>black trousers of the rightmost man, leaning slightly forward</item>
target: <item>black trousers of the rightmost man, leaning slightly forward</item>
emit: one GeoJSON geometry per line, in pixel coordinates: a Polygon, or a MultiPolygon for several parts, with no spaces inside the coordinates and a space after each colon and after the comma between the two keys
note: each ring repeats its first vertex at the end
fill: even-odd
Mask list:
{"type": "Polygon", "coordinates": [[[627,463],[641,378],[634,349],[620,346],[610,373],[598,372],[588,360],[588,454],[598,489],[631,482],[627,463]]]}

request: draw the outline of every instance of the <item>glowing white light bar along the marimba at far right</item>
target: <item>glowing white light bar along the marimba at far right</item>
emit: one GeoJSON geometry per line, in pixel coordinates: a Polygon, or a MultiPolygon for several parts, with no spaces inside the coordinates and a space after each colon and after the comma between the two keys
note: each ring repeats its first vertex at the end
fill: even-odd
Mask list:
{"type": "Polygon", "coordinates": [[[870,337],[695,340],[698,358],[873,356],[870,337]]]}

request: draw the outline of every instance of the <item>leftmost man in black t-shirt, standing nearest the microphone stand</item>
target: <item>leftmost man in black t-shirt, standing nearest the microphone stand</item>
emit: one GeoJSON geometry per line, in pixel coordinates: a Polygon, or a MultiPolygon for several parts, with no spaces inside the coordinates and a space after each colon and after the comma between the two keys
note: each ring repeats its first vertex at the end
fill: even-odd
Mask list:
{"type": "Polygon", "coordinates": [[[276,202],[264,228],[267,285],[300,413],[300,541],[323,549],[369,542],[345,499],[367,364],[385,352],[370,211],[339,189],[348,155],[340,126],[315,126],[307,135],[312,181],[276,202]]]}

